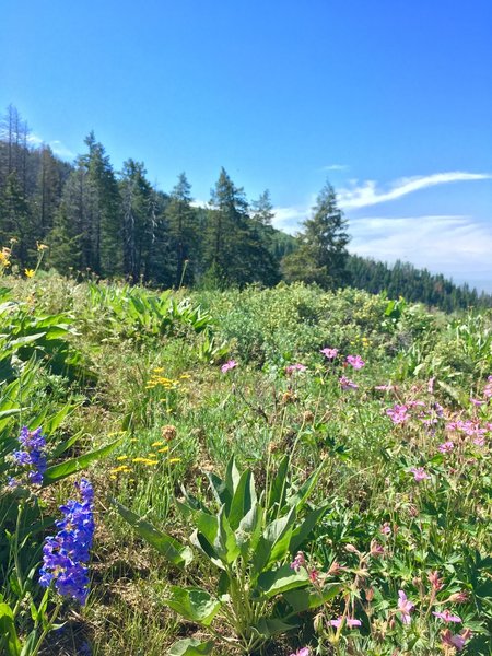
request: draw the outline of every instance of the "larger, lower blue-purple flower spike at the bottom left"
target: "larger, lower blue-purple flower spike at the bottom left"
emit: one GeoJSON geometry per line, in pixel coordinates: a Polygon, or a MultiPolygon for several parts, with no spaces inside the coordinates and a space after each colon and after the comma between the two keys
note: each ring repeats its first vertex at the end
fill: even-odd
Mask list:
{"type": "Polygon", "coordinates": [[[90,550],[94,537],[94,491],[86,479],[75,485],[82,503],[70,500],[60,506],[63,518],[56,522],[58,534],[47,537],[43,547],[43,566],[39,584],[55,589],[63,597],[71,597],[84,605],[89,595],[90,550]]]}

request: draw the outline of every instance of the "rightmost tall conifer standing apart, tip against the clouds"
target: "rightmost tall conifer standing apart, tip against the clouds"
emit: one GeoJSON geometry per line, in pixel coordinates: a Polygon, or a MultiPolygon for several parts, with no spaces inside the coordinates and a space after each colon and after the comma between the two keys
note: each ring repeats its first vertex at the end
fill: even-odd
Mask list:
{"type": "Polygon", "coordinates": [[[336,289],[348,282],[347,221],[337,206],[337,196],[325,185],[313,208],[313,216],[304,221],[298,235],[301,246],[282,260],[285,280],[315,282],[324,289],[336,289]]]}

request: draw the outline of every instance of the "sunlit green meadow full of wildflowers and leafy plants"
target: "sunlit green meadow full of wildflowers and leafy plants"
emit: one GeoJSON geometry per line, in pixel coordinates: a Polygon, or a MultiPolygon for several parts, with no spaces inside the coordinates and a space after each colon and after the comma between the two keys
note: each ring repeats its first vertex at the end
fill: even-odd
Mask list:
{"type": "Polygon", "coordinates": [[[4,645],[43,634],[42,542],[84,476],[89,598],[51,585],[39,654],[491,653],[490,313],[3,282],[4,645]],[[52,484],[9,487],[22,425],[52,484]]]}

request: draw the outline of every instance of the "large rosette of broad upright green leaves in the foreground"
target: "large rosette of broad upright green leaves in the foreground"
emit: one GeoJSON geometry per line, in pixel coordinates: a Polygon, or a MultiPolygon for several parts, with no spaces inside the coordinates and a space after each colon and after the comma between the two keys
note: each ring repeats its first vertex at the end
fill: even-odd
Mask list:
{"type": "Polygon", "coordinates": [[[313,610],[340,591],[340,585],[313,587],[305,569],[291,566],[294,554],[328,509],[311,508],[307,500],[321,466],[300,487],[290,476],[285,456],[266,490],[258,494],[254,476],[230,460],[224,479],[206,472],[214,503],[204,505],[183,490],[178,507],[195,526],[189,544],[157,530],[114,502],[137,532],[184,571],[189,587],[172,585],[165,604],[200,624],[211,640],[175,643],[169,654],[210,654],[219,643],[254,654],[274,636],[300,625],[300,613],[313,610]],[[197,582],[190,563],[199,558],[216,576],[197,582]],[[220,630],[218,629],[220,628],[220,630]]]}

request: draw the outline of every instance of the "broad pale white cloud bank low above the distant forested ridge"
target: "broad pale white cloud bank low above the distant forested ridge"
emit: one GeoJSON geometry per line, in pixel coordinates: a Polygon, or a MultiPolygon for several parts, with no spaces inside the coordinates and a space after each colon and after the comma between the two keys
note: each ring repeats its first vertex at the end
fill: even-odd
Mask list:
{"type": "Polygon", "coordinates": [[[492,291],[492,226],[466,215],[362,218],[350,222],[350,250],[444,273],[492,291]]]}

